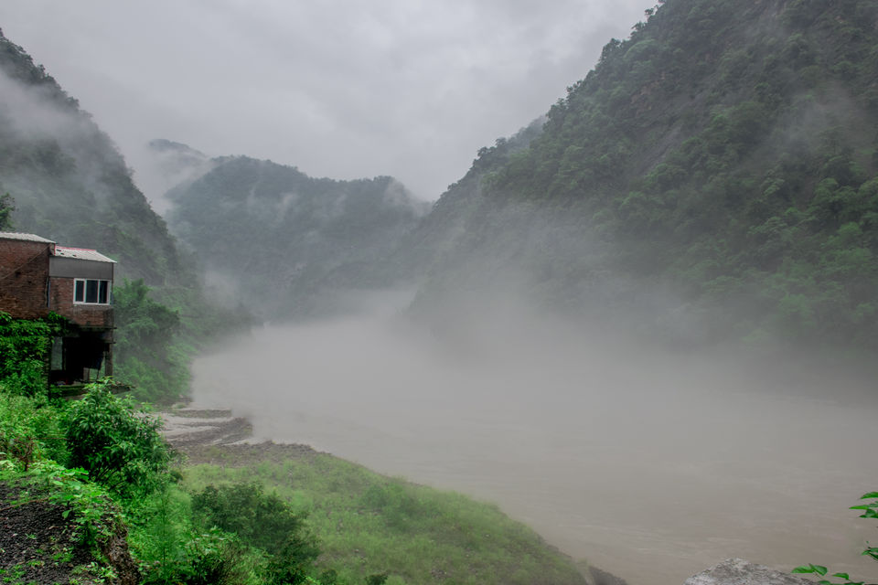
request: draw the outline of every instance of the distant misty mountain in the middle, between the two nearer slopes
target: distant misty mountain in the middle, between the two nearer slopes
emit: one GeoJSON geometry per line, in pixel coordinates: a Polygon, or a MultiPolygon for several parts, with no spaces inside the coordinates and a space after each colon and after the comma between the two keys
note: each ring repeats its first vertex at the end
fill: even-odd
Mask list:
{"type": "Polygon", "coordinates": [[[335,181],[244,156],[171,189],[168,223],[227,300],[264,317],[323,314],[402,278],[391,252],[426,205],[388,176],[335,181]]]}

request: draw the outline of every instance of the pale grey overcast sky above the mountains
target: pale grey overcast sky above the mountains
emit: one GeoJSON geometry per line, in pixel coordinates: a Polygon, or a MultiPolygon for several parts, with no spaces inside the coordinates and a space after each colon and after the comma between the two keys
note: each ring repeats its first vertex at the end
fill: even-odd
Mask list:
{"type": "Polygon", "coordinates": [[[652,4],[3,0],[0,27],[91,112],[135,180],[148,183],[145,143],[167,138],[310,176],[391,175],[435,199],[652,4]]]}

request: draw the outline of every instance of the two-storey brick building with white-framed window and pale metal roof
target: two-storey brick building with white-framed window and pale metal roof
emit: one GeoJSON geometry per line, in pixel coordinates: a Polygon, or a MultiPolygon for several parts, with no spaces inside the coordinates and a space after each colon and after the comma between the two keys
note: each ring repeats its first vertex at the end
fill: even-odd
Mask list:
{"type": "Polygon", "coordinates": [[[53,340],[50,384],[112,376],[114,265],[96,250],[0,232],[0,311],[16,319],[54,312],[70,322],[65,335],[53,340]]]}

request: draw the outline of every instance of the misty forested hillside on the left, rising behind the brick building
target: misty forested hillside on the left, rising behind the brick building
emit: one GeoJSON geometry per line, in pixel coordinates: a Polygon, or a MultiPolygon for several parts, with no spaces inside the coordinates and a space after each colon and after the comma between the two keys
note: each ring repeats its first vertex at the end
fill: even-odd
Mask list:
{"type": "Polygon", "coordinates": [[[142,398],[177,399],[187,392],[192,346],[241,318],[204,302],[195,265],[179,254],[110,138],[2,33],[0,90],[0,229],[117,261],[116,378],[142,398]]]}

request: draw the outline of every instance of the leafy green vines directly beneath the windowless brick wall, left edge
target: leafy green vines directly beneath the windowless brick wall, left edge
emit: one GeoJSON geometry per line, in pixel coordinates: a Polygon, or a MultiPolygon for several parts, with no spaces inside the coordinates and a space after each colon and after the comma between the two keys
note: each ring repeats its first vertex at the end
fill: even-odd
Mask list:
{"type": "Polygon", "coordinates": [[[64,319],[13,319],[0,312],[0,385],[7,392],[36,396],[46,393],[47,357],[52,338],[64,331],[64,319]]]}

